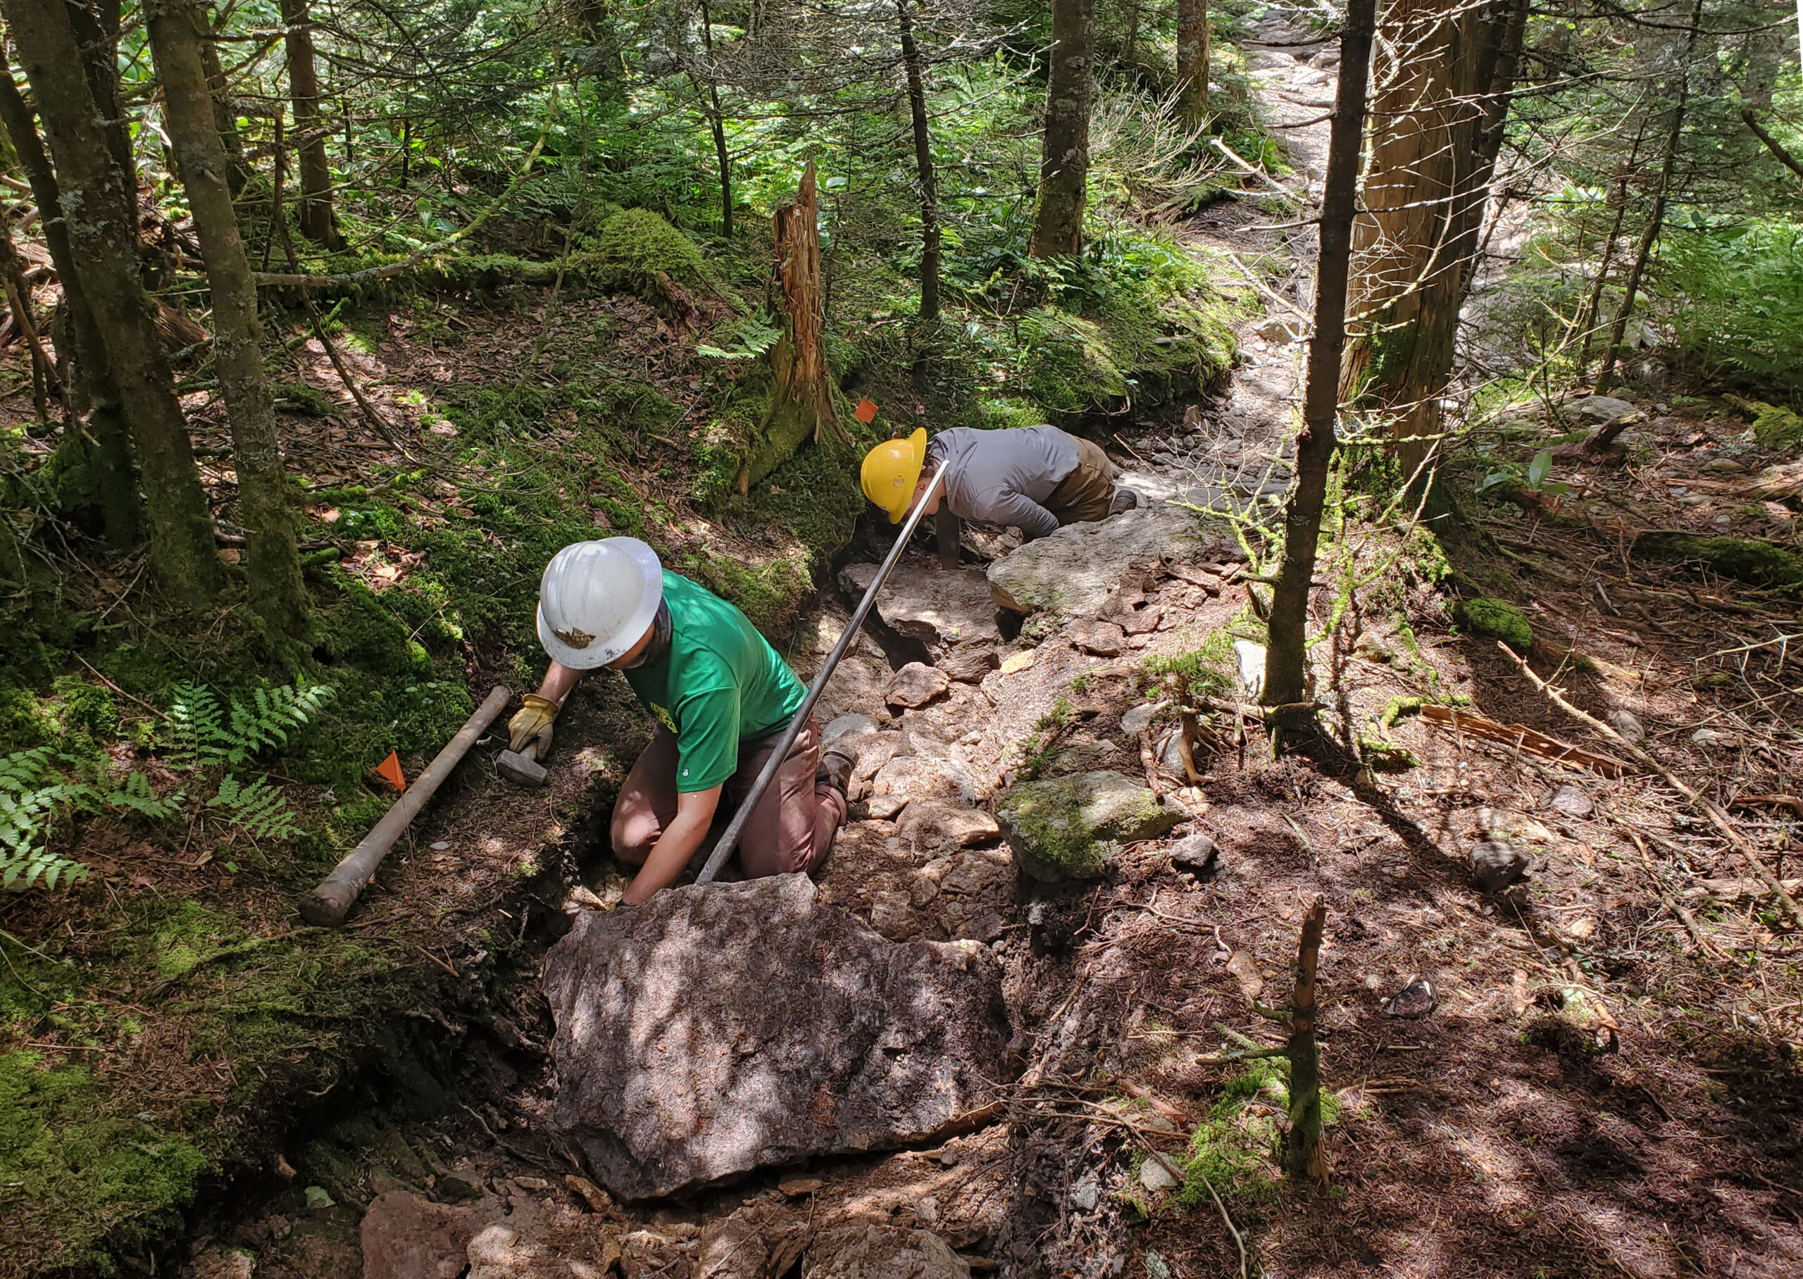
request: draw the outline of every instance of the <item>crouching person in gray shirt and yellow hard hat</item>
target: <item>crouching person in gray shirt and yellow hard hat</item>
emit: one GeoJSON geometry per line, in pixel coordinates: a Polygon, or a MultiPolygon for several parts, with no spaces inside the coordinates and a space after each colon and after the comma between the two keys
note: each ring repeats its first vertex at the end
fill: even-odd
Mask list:
{"type": "MultiPolygon", "coordinates": [[[[1116,491],[1114,464],[1100,447],[1055,426],[959,426],[930,444],[925,431],[878,444],[864,456],[864,494],[889,512],[889,523],[902,523],[941,462],[952,514],[1015,527],[1028,541],[1136,503],[1130,489],[1116,491]]],[[[938,509],[934,496],[927,514],[938,509]]]]}

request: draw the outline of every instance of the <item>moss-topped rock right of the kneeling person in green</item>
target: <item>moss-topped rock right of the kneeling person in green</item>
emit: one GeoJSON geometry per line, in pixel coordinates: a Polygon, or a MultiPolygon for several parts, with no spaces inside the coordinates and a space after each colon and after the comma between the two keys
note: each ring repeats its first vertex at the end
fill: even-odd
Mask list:
{"type": "Polygon", "coordinates": [[[1020,870],[1044,884],[1100,879],[1121,844],[1158,839],[1183,819],[1181,808],[1118,772],[1022,781],[995,805],[1020,870]]]}

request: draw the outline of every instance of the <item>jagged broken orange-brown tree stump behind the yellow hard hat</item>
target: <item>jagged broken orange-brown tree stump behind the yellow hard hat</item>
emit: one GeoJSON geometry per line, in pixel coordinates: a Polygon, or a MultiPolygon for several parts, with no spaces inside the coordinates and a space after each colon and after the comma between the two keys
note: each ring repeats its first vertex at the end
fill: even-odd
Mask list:
{"type": "Polygon", "coordinates": [[[739,492],[763,480],[801,446],[833,431],[849,442],[833,413],[831,373],[826,366],[826,307],[820,290],[820,191],[813,161],[801,175],[790,204],[775,211],[775,287],[783,337],[770,352],[775,386],[761,438],[739,473],[739,492]]]}

